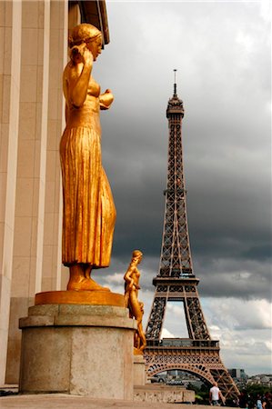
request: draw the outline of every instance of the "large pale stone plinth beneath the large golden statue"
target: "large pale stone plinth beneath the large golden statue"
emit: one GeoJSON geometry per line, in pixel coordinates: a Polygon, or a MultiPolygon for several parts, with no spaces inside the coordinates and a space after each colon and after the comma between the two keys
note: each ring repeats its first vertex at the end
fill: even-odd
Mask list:
{"type": "Polygon", "coordinates": [[[133,337],[127,309],[41,304],[21,318],[19,392],[133,399],[133,337]]]}

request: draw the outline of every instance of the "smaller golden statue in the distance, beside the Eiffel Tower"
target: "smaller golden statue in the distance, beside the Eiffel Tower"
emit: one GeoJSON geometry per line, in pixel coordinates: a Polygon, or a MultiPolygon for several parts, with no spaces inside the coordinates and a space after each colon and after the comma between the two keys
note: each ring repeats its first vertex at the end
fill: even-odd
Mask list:
{"type": "Polygon", "coordinates": [[[138,300],[138,290],[140,289],[140,272],[137,264],[141,262],[143,254],[135,250],[132,254],[131,262],[124,275],[125,280],[125,306],[129,310],[129,317],[136,318],[137,331],[134,340],[134,354],[143,354],[146,347],[146,335],[143,330],[144,303],[138,300]]]}

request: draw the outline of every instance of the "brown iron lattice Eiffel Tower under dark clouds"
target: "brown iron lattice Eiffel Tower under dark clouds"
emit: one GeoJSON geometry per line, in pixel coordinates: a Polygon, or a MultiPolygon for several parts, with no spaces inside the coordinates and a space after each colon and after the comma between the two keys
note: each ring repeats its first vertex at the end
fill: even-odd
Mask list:
{"type": "MultiPolygon", "coordinates": [[[[236,399],[239,391],[219,355],[219,341],[209,334],[199,302],[193,272],[186,217],[186,186],[182,152],[183,102],[176,95],[168,101],[168,172],[166,210],[160,266],[151,313],[146,326],[146,371],[153,376],[167,370],[195,374],[206,384],[217,382],[227,400],[236,399]],[[189,338],[161,339],[167,302],[183,302],[189,338]]],[[[177,323],[178,324],[178,323],[177,323]]]]}

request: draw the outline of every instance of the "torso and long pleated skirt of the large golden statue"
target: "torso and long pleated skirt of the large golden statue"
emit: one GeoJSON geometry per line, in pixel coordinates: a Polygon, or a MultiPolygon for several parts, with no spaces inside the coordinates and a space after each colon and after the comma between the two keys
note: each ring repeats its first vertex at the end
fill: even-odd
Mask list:
{"type": "Polygon", "coordinates": [[[91,77],[85,103],[67,106],[60,142],[63,178],[62,260],[65,265],[110,263],[116,208],[101,161],[100,105],[103,95],[91,77]]]}

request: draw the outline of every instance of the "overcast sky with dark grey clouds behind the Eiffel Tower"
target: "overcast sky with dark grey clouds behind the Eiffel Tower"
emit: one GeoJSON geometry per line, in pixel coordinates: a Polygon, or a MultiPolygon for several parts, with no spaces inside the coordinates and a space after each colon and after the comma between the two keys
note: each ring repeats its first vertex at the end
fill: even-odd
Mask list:
{"type": "MultiPolygon", "coordinates": [[[[94,77],[116,100],[101,113],[116,202],[112,264],[94,273],[123,292],[131,252],[146,320],[160,258],[166,105],[184,101],[187,214],[201,304],[227,367],[271,369],[271,52],[269,2],[106,2],[109,45],[94,77]]],[[[187,336],[182,305],[164,334],[187,336]]]]}

